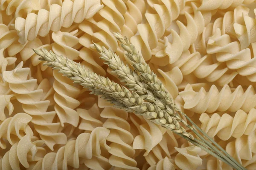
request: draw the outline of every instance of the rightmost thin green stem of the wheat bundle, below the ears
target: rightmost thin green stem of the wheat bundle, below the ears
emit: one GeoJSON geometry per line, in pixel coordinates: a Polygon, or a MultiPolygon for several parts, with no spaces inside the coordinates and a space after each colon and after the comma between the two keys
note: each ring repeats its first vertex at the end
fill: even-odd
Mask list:
{"type": "MultiPolygon", "coordinates": [[[[213,144],[215,144],[218,149],[220,149],[228,158],[230,158],[236,165],[238,165],[242,170],[247,170],[241,164],[239,164],[230,154],[228,154],[217,142],[215,142],[212,138],[210,138],[200,127],[198,127],[187,115],[185,115],[186,119],[189,120],[195,128],[197,128],[204,136],[206,136],[213,144]]],[[[195,130],[196,131],[196,130],[195,130]]],[[[194,131],[193,131],[194,132],[194,131]]],[[[199,134],[199,133],[198,133],[199,134]]],[[[200,134],[199,134],[200,135],[200,134]]],[[[201,135],[200,135],[201,136],[201,135]]],[[[200,138],[200,136],[198,136],[200,138]]],[[[208,141],[209,142],[209,141],[208,141]]],[[[210,144],[210,143],[209,143],[210,144]]],[[[212,144],[211,144],[212,145],[212,144]]]]}

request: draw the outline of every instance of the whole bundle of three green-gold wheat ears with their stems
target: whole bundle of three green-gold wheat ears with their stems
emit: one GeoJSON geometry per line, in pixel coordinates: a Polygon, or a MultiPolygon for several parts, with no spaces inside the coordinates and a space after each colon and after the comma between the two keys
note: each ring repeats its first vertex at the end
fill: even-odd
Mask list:
{"type": "Polygon", "coordinates": [[[201,147],[210,155],[220,159],[236,170],[246,170],[221,146],[201,130],[185,113],[176,106],[169,93],[157,75],[150,69],[143,57],[137,52],[135,46],[126,37],[115,33],[125,55],[131,60],[132,68],[125,65],[111,50],[94,43],[100,58],[112,69],[125,86],[119,85],[109,78],[97,75],[63,56],[55,55],[46,49],[35,50],[41,56],[39,60],[46,61],[44,65],[57,69],[58,72],[70,78],[74,83],[80,84],[91,91],[91,94],[101,95],[102,98],[114,104],[113,107],[134,112],[185,138],[192,144],[201,147]],[[190,122],[189,125],[186,121],[190,122]],[[187,132],[183,126],[188,127],[187,132]],[[202,134],[202,135],[201,135],[202,134]]]}

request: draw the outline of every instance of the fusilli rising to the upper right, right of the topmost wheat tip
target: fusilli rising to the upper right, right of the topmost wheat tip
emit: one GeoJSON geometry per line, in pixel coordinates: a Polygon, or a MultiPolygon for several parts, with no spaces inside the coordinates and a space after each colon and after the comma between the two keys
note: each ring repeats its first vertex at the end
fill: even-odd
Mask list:
{"type": "MultiPolygon", "coordinates": [[[[176,21],[179,27],[178,34],[174,29],[171,29],[172,43],[169,42],[167,37],[164,37],[163,49],[155,54],[157,58],[163,58],[168,55],[169,63],[175,63],[180,58],[182,52],[189,49],[189,47],[196,41],[199,35],[203,32],[205,21],[203,14],[198,10],[194,3],[191,4],[194,10],[193,15],[185,12],[187,26],[179,20],[176,21]]],[[[211,15],[206,16],[211,17],[211,15]]]]}

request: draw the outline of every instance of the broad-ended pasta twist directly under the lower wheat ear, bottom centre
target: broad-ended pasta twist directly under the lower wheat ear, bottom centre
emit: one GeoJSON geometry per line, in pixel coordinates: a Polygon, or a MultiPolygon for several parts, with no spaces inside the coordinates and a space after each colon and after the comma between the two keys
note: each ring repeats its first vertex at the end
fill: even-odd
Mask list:
{"type": "Polygon", "coordinates": [[[157,126],[151,121],[145,120],[142,116],[130,114],[132,123],[137,127],[140,135],[134,138],[133,148],[146,150],[143,156],[159,144],[163,139],[166,129],[157,126]]]}

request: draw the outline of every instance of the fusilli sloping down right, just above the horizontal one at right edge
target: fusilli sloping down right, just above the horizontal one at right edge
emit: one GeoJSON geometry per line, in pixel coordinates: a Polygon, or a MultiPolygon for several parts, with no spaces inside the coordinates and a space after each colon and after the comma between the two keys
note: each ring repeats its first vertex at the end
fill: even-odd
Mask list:
{"type": "Polygon", "coordinates": [[[230,83],[236,75],[236,71],[227,68],[225,63],[216,62],[211,55],[201,57],[199,52],[183,52],[180,58],[171,65],[178,67],[183,77],[193,73],[197,78],[205,78],[208,82],[216,82],[219,86],[230,83]]]}

